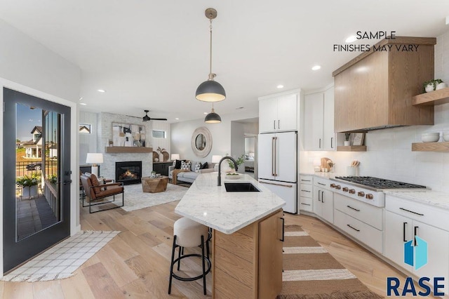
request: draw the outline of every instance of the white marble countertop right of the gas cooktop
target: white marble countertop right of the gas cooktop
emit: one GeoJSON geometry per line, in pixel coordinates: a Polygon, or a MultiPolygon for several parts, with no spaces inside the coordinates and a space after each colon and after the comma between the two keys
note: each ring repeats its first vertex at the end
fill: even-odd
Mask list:
{"type": "MultiPolygon", "coordinates": [[[[449,193],[431,190],[384,190],[384,193],[401,199],[417,201],[421,204],[429,204],[449,210],[449,193]]],[[[387,200],[388,197],[385,197],[385,201],[387,200]]]]}

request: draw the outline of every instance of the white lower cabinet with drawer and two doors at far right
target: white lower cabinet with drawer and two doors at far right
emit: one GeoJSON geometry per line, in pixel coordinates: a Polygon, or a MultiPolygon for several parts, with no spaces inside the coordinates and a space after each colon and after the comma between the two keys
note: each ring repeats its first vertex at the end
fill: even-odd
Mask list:
{"type": "MultiPolygon", "coordinates": [[[[429,277],[429,284],[432,284],[434,277],[445,277],[444,291],[448,295],[449,232],[420,220],[441,223],[444,227],[448,223],[449,212],[388,195],[385,198],[385,210],[384,256],[417,277],[429,277]],[[404,244],[413,241],[415,236],[427,242],[427,264],[417,270],[404,263],[404,244]]],[[[420,246],[419,242],[417,246],[420,246]]],[[[413,249],[416,253],[416,249],[413,249]]]]}

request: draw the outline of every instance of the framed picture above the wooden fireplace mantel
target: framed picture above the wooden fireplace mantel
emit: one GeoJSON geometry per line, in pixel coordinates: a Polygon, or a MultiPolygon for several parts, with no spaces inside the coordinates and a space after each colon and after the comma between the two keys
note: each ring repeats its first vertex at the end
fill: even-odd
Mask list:
{"type": "Polygon", "coordinates": [[[112,123],[112,146],[145,147],[145,126],[112,123]]]}

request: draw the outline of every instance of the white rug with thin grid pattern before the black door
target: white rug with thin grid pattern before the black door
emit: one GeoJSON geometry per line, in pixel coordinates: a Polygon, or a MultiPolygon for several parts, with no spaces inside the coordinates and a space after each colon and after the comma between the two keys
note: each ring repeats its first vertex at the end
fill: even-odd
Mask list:
{"type": "Polygon", "coordinates": [[[111,241],[117,231],[81,231],[6,274],[2,281],[48,281],[71,277],[88,258],[111,241]]]}

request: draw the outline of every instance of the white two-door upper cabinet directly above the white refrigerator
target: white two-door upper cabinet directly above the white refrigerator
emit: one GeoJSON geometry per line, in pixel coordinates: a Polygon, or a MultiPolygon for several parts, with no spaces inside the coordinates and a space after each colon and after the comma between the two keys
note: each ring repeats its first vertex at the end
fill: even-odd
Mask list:
{"type": "Polygon", "coordinates": [[[297,93],[259,99],[259,132],[297,131],[297,93]]]}

